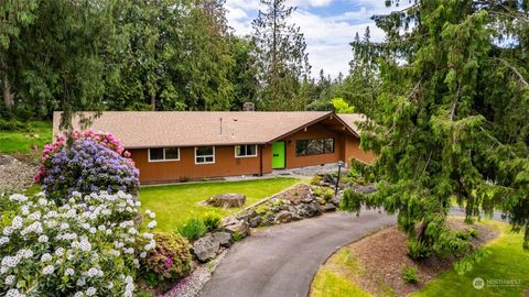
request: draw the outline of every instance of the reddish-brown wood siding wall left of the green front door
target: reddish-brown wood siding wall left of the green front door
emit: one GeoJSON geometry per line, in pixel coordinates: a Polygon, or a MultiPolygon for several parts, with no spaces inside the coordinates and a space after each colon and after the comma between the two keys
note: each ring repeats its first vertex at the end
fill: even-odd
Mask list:
{"type": "MultiPolygon", "coordinates": [[[[195,147],[181,147],[180,161],[149,162],[147,148],[131,150],[141,184],[260,174],[260,155],[235,157],[235,147],[215,146],[214,164],[195,164],[195,147]]],[[[262,147],[263,174],[271,173],[270,146],[262,147]]]]}

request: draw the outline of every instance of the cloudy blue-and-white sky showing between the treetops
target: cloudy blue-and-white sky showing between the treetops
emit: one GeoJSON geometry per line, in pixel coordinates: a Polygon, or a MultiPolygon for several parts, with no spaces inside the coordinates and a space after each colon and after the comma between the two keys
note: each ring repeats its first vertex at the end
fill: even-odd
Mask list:
{"type": "MultiPolygon", "coordinates": [[[[349,43],[356,32],[361,36],[369,26],[371,41],[382,41],[384,32],[370,18],[396,9],[386,8],[385,0],[287,0],[287,4],[298,7],[291,21],[305,36],[313,77],[320,69],[332,77],[347,74],[353,58],[349,43]]],[[[228,23],[236,34],[251,33],[259,7],[259,0],[226,0],[228,23]]]]}

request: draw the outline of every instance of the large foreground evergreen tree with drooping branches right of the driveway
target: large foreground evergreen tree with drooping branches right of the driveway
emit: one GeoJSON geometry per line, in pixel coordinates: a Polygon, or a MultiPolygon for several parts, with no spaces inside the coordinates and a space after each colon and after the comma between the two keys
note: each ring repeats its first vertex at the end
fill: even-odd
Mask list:
{"type": "Polygon", "coordinates": [[[529,248],[527,13],[526,1],[423,0],[375,16],[387,41],[364,44],[381,91],[361,143],[379,191],[361,199],[398,213],[412,245],[469,249],[446,226],[455,198],[468,221],[501,209],[529,248]]]}

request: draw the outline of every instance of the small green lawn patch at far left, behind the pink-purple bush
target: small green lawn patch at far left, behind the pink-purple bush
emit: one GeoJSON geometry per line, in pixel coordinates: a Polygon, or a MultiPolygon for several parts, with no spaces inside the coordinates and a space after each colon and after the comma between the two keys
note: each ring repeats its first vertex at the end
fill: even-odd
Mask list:
{"type": "Polygon", "coordinates": [[[0,153],[29,153],[32,145],[42,151],[44,144],[52,142],[52,124],[31,122],[29,131],[0,131],[0,153]]]}

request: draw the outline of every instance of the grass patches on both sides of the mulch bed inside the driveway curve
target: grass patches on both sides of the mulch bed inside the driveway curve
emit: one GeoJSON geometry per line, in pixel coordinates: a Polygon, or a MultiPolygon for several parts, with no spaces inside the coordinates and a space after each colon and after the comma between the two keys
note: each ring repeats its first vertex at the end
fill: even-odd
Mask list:
{"type": "MultiPolygon", "coordinates": [[[[489,254],[474,264],[472,272],[458,275],[450,270],[411,296],[523,296],[529,288],[529,252],[521,248],[523,234],[510,232],[507,223],[484,223],[500,231],[498,239],[483,248],[489,254]],[[484,288],[473,287],[476,277],[485,280],[484,288]],[[511,282],[512,285],[494,285],[494,282],[511,282]]],[[[320,268],[312,284],[311,297],[370,296],[355,284],[365,271],[347,252],[347,249],[339,250],[320,268]]],[[[382,290],[386,296],[393,295],[389,288],[382,287],[382,290]]]]}

